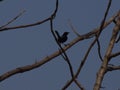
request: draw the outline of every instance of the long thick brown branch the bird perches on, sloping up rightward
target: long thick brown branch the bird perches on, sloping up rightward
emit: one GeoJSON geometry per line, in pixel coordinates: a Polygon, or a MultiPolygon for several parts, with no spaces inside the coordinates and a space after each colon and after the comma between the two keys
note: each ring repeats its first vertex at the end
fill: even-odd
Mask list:
{"type": "MultiPolygon", "coordinates": [[[[119,12],[117,12],[114,16],[112,16],[112,17],[104,24],[104,28],[107,27],[107,26],[118,16],[118,13],[119,13],[119,12]]],[[[88,33],[82,35],[81,37],[77,37],[77,38],[73,39],[73,40],[69,43],[69,45],[67,45],[66,47],[63,48],[64,51],[66,51],[67,49],[71,48],[73,45],[75,45],[75,44],[76,44],[77,42],[79,42],[79,41],[82,41],[82,40],[85,40],[85,39],[89,39],[89,37],[94,36],[96,33],[98,33],[98,31],[99,31],[99,28],[94,29],[94,30],[92,30],[91,32],[88,32],[88,33]]],[[[51,61],[53,58],[59,56],[60,54],[61,54],[60,51],[56,51],[56,52],[54,52],[53,54],[45,57],[44,59],[39,60],[39,62],[33,63],[33,64],[31,64],[31,65],[26,65],[26,66],[23,66],[23,67],[18,67],[18,68],[21,68],[21,69],[17,69],[17,68],[16,68],[16,69],[14,69],[14,70],[10,70],[10,71],[8,71],[8,72],[0,75],[0,81],[3,81],[3,80],[5,80],[5,79],[7,79],[7,78],[9,78],[9,77],[11,77],[11,76],[13,76],[13,75],[15,75],[15,74],[18,74],[18,73],[21,73],[21,72],[27,72],[27,71],[29,71],[29,70],[33,70],[33,69],[35,69],[35,68],[38,68],[38,67],[44,65],[45,63],[51,61]],[[21,71],[21,70],[22,70],[22,71],[21,71]]]]}

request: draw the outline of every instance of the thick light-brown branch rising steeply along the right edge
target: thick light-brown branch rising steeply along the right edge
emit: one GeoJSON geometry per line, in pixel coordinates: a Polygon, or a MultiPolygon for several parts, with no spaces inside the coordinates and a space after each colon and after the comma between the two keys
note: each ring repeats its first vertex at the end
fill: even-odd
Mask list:
{"type": "MultiPolygon", "coordinates": [[[[120,17],[120,14],[119,14],[119,17],[120,17]]],[[[107,70],[108,62],[110,61],[110,56],[111,56],[111,53],[112,53],[112,49],[114,47],[115,40],[116,40],[117,34],[119,32],[119,27],[120,27],[120,19],[117,19],[117,25],[113,29],[111,40],[109,42],[106,54],[104,56],[103,63],[102,63],[102,65],[101,65],[101,67],[100,67],[100,69],[97,73],[97,78],[96,78],[96,82],[95,82],[95,85],[94,85],[94,90],[99,90],[100,87],[101,87],[102,80],[103,80],[104,75],[105,75],[106,70],[107,70]]]]}

